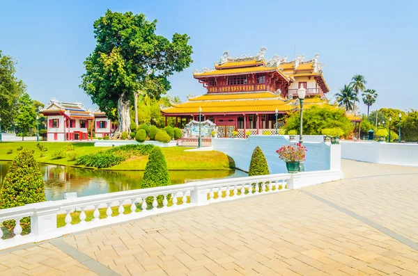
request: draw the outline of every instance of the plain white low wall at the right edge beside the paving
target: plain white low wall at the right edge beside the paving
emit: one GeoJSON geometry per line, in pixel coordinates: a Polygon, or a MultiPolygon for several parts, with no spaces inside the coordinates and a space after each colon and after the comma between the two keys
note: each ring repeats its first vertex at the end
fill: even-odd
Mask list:
{"type": "Polygon", "coordinates": [[[418,166],[418,145],[341,141],[341,157],[357,161],[418,166]]]}

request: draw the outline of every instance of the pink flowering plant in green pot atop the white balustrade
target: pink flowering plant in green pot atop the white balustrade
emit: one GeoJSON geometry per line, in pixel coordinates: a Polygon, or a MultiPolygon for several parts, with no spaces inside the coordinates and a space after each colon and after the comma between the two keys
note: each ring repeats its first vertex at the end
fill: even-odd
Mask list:
{"type": "Polygon", "coordinates": [[[286,168],[289,173],[296,173],[300,171],[300,162],[305,161],[307,148],[302,144],[284,145],[277,149],[279,159],[286,162],[286,168]]]}

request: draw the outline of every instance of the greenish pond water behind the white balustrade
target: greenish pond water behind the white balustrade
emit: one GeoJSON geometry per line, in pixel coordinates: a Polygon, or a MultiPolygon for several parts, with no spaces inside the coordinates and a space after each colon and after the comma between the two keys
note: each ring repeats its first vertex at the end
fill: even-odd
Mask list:
{"type": "MultiPolygon", "coordinates": [[[[0,161],[0,186],[11,162],[0,161]]],[[[144,171],[107,171],[39,164],[45,180],[47,200],[63,200],[63,193],[77,192],[79,197],[141,188],[144,171]]],[[[170,171],[172,184],[192,181],[247,177],[240,170],[175,170],[170,171]]]]}

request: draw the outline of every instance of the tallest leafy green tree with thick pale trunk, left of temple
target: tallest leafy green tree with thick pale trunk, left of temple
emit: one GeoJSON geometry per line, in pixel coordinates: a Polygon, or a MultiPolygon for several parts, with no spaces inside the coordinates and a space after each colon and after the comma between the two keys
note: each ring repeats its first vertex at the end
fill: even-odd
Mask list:
{"type": "Polygon", "coordinates": [[[155,33],[156,25],[143,14],[111,10],[93,24],[96,47],[84,61],[81,87],[108,117],[117,117],[114,138],[130,132],[134,93],[160,98],[171,88],[168,77],[193,61],[188,35],[175,33],[168,40],[155,33]]]}

